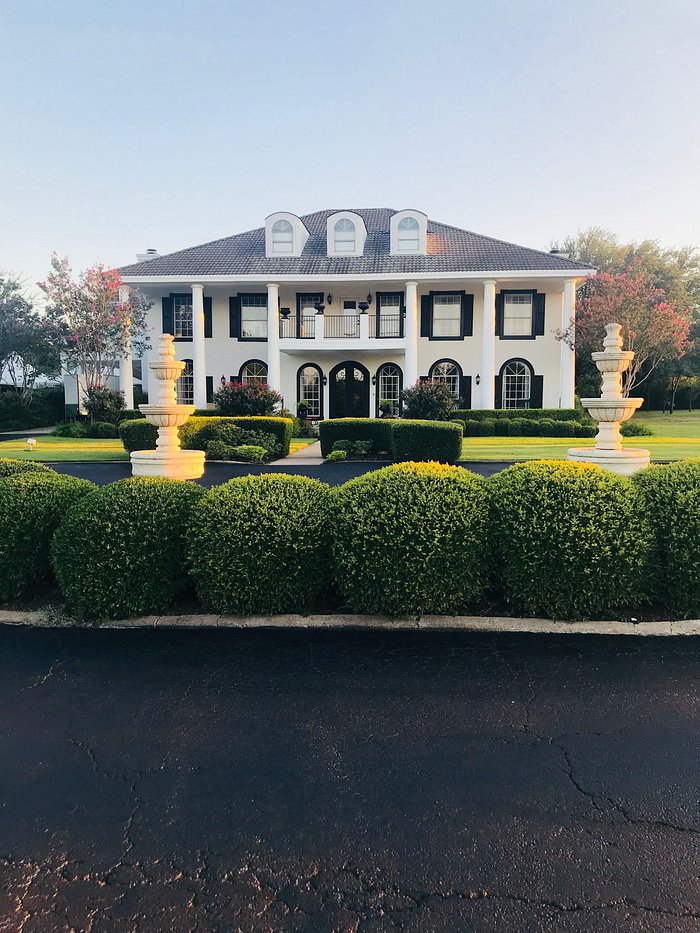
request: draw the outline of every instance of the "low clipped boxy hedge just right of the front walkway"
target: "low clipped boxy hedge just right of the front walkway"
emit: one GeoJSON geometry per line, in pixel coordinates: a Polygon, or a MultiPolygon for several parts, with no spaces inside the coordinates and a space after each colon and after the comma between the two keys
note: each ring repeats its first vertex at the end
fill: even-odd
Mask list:
{"type": "Polygon", "coordinates": [[[462,453],[461,425],[450,421],[405,418],[329,418],[319,424],[321,454],[327,457],[338,441],[366,442],[370,455],[393,460],[435,460],[454,463],[462,453]]]}

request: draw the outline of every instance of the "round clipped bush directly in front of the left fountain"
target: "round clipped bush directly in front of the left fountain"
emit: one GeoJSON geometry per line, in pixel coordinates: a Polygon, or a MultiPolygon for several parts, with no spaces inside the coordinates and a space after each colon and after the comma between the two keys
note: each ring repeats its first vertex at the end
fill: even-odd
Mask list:
{"type": "Polygon", "coordinates": [[[187,583],[185,533],[192,506],[203,495],[190,483],[133,477],[77,503],[51,549],[71,608],[94,618],[167,609],[187,583]]]}

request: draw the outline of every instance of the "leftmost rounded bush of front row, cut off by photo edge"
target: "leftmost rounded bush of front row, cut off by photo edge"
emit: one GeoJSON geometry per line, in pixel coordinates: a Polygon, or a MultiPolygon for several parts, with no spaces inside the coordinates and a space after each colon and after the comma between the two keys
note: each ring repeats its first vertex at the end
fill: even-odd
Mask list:
{"type": "Polygon", "coordinates": [[[0,479],[0,599],[51,576],[49,549],[66,511],[94,483],[53,470],[0,479]]]}

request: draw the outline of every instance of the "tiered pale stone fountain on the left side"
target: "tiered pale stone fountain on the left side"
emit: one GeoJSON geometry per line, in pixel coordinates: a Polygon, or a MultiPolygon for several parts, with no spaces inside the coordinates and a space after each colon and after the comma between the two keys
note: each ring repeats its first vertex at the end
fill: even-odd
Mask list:
{"type": "Polygon", "coordinates": [[[194,412],[194,405],[179,405],[175,383],[185,368],[175,359],[173,338],[163,334],[158,340],[158,359],[149,363],[155,376],[156,402],[139,405],[146,420],[158,428],[155,450],[134,450],[131,471],[134,476],[166,476],[168,479],[199,479],[204,473],[203,450],[181,450],[177,429],[194,412]]]}

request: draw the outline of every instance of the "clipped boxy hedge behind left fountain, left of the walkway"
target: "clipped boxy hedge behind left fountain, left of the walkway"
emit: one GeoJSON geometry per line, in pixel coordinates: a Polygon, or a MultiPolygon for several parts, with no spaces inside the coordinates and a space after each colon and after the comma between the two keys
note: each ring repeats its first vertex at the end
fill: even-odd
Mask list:
{"type": "MultiPolygon", "coordinates": [[[[180,428],[180,442],[186,450],[206,450],[211,441],[228,446],[231,443],[230,428],[240,428],[246,433],[272,435],[276,444],[276,455],[286,457],[292,440],[294,422],[291,418],[238,416],[225,418],[220,415],[211,417],[188,418],[180,428]]],[[[119,425],[119,437],[124,448],[132,450],[153,450],[156,446],[158,429],[145,419],[122,421],[119,425]]],[[[240,443],[237,441],[236,443],[240,443]]]]}

